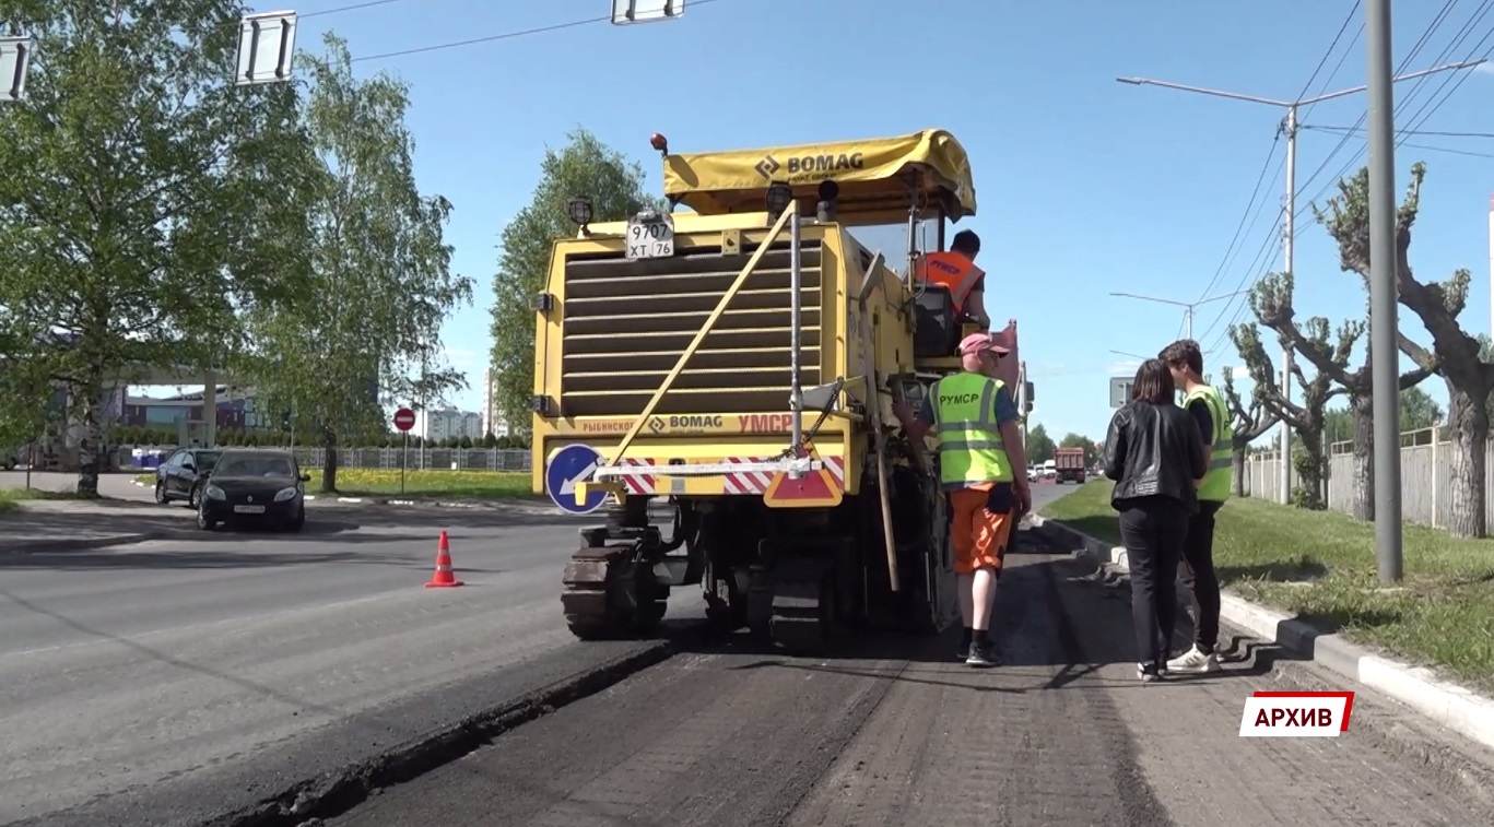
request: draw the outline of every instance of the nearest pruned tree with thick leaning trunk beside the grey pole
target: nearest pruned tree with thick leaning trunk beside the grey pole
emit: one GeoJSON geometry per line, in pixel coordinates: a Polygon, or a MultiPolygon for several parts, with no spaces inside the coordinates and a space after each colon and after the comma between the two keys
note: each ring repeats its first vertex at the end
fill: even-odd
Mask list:
{"type": "MultiPolygon", "coordinates": [[[[1395,290],[1400,303],[1409,308],[1431,333],[1431,351],[1419,346],[1407,348],[1404,334],[1401,349],[1419,369],[1437,373],[1448,385],[1448,431],[1452,443],[1452,502],[1448,530],[1454,536],[1482,537],[1487,530],[1484,472],[1488,464],[1487,442],[1490,433],[1490,393],[1494,391],[1494,364],[1481,355],[1481,343],[1458,324],[1458,315],[1467,306],[1472,275],[1466,269],[1452,273],[1448,281],[1416,281],[1410,267],[1410,233],[1421,209],[1421,185],[1427,178],[1427,164],[1416,163],[1410,169],[1406,199],[1395,210],[1395,290]]],[[[1366,288],[1370,284],[1370,175],[1360,170],[1349,181],[1339,182],[1339,196],[1327,212],[1318,212],[1318,219],[1328,227],[1339,242],[1339,263],[1346,272],[1361,276],[1366,288]]],[[[1361,421],[1366,427],[1371,418],[1361,421]]],[[[1358,448],[1358,443],[1355,445],[1358,448]]]]}

